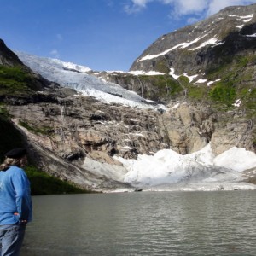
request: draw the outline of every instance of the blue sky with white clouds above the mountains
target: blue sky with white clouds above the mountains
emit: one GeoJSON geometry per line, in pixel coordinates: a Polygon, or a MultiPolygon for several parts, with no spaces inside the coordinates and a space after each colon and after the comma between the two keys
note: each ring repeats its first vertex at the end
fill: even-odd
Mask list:
{"type": "Polygon", "coordinates": [[[0,38],[9,49],[96,71],[128,71],[174,30],[256,0],[1,0],[0,38]]]}

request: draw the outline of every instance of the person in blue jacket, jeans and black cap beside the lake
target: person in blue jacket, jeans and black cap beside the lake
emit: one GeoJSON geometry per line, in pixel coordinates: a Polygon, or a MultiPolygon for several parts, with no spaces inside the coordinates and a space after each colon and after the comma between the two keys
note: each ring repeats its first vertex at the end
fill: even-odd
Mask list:
{"type": "Polygon", "coordinates": [[[32,220],[30,183],[22,169],[26,149],[14,148],[0,166],[0,256],[19,256],[26,224],[32,220]]]}

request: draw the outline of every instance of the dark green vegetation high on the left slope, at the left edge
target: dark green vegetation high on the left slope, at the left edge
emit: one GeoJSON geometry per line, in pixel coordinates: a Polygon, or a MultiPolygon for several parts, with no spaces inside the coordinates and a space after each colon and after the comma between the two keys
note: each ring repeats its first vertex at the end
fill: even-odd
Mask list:
{"type": "Polygon", "coordinates": [[[29,94],[35,90],[35,80],[22,67],[0,65],[0,96],[29,94]]]}

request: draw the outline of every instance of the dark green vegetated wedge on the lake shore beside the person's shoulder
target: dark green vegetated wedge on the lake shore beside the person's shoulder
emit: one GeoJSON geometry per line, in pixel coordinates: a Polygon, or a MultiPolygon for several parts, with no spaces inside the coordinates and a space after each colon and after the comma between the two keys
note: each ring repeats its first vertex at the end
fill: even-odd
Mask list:
{"type": "Polygon", "coordinates": [[[26,175],[31,182],[32,195],[91,193],[89,190],[79,189],[73,183],[61,181],[45,172],[40,172],[35,166],[27,166],[26,175]]]}

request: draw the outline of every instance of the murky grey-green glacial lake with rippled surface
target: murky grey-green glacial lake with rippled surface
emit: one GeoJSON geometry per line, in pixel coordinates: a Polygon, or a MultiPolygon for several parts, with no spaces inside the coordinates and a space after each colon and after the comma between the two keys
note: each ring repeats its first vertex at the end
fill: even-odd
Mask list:
{"type": "Polygon", "coordinates": [[[256,255],[256,191],[34,196],[21,256],[256,255]]]}

